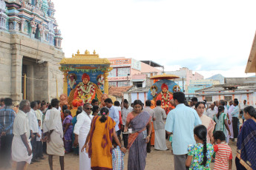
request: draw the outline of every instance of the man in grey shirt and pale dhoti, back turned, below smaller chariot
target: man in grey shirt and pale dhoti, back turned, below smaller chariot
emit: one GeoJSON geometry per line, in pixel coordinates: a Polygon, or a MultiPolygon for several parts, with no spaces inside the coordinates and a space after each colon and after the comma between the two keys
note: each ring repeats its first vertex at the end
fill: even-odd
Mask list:
{"type": "Polygon", "coordinates": [[[161,107],[161,101],[157,101],[157,106],[154,110],[155,120],[154,120],[154,149],[165,151],[165,110],[161,107]]]}

